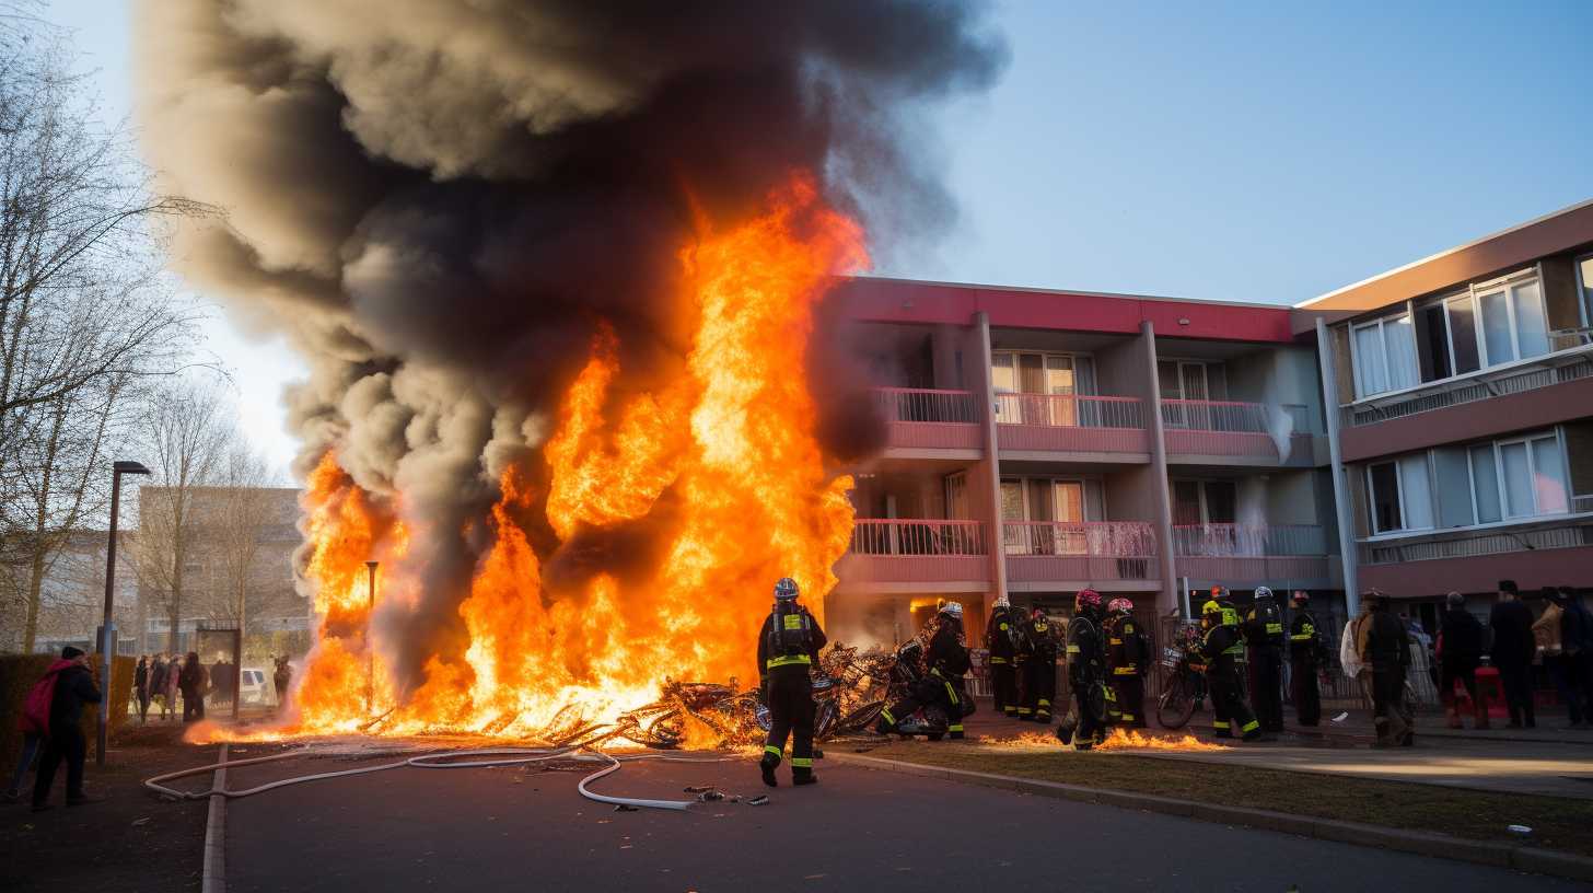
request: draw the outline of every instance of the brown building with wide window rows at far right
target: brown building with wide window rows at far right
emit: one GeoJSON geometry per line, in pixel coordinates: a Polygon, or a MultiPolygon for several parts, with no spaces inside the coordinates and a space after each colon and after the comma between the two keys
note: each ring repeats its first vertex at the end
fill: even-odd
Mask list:
{"type": "Polygon", "coordinates": [[[1593,585],[1593,201],[1298,306],[1346,574],[1416,600],[1593,585]]]}

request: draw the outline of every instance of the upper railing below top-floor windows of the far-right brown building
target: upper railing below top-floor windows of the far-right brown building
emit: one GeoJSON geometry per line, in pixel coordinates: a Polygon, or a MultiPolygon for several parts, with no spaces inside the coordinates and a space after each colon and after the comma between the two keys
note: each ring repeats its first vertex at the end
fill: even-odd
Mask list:
{"type": "Polygon", "coordinates": [[[1536,391],[1550,384],[1593,378],[1593,346],[1587,344],[1585,338],[1583,335],[1555,335],[1550,346],[1558,352],[1456,381],[1434,381],[1397,394],[1357,400],[1348,407],[1340,407],[1340,418],[1346,427],[1360,427],[1432,410],[1489,400],[1493,397],[1536,391]]]}

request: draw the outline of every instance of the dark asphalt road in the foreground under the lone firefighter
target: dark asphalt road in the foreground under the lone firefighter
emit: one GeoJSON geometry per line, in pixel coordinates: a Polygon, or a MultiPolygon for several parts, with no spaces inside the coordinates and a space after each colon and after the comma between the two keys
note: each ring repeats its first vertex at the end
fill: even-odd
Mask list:
{"type": "MultiPolygon", "coordinates": [[[[242,788],[358,764],[233,770],[242,788]]],[[[782,770],[782,777],[785,772],[782,770]]],[[[1572,890],[1568,880],[820,762],[761,807],[615,812],[580,773],[398,769],[233,801],[226,882],[255,890],[1572,890]]],[[[784,781],[784,778],[782,778],[784,781]]],[[[766,793],[750,761],[632,764],[597,783],[766,793]]]]}

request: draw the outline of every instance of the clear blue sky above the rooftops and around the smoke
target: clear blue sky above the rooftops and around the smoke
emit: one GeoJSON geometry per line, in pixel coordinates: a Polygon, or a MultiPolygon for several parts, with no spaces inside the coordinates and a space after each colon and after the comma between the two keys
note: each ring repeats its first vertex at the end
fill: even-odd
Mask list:
{"type": "MultiPolygon", "coordinates": [[[[124,113],[127,3],[49,8],[124,113]]],[[[879,273],[1297,303],[1593,198],[1585,0],[1035,0],[996,24],[1005,78],[941,115],[959,225],[879,273]]],[[[303,367],[210,335],[285,464],[303,367]]]]}

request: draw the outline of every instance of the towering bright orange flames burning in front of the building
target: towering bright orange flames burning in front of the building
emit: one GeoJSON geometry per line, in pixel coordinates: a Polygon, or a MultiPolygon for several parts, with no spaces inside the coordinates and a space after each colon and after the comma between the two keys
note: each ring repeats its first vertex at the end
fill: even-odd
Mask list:
{"type": "Polygon", "coordinates": [[[782,576],[822,609],[851,537],[852,482],[824,466],[804,352],[827,284],[867,265],[862,230],[798,174],[758,217],[704,231],[679,257],[680,313],[695,321],[683,373],[621,395],[621,344],[610,328],[594,338],[540,451],[546,493],[513,467],[497,482],[491,545],[459,606],[468,646],[433,654],[414,690],[384,673],[365,563],[381,563],[379,603],[413,603],[408,542],[429,520],[406,515],[403,494],[358,488],[336,451],[322,459],[306,498],[322,622],[293,730],[546,737],[656,698],[666,676],[753,679],[757,628],[782,576]],[[516,523],[538,496],[569,541],[648,517],[666,491],[666,545],[645,585],[597,574],[577,596],[545,592],[516,523]]]}

